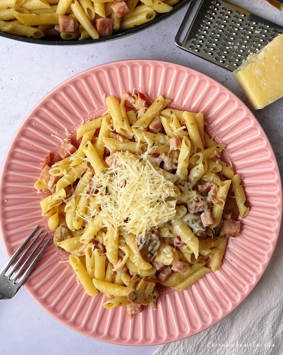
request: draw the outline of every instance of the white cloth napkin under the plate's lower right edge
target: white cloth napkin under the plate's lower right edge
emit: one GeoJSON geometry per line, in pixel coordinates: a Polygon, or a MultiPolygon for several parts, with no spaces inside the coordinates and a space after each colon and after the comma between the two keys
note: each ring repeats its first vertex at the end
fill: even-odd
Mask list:
{"type": "Polygon", "coordinates": [[[267,269],[248,297],[205,331],[161,345],[153,355],[282,355],[283,227],[267,269]]]}

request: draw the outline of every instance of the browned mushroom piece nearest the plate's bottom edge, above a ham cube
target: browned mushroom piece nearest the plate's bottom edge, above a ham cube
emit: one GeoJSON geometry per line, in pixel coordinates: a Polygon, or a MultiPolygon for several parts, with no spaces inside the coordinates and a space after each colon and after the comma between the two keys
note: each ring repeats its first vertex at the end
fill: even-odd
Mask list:
{"type": "Polygon", "coordinates": [[[157,299],[158,291],[155,288],[155,280],[150,276],[143,278],[135,275],[128,285],[128,300],[130,302],[147,306],[157,299]]]}

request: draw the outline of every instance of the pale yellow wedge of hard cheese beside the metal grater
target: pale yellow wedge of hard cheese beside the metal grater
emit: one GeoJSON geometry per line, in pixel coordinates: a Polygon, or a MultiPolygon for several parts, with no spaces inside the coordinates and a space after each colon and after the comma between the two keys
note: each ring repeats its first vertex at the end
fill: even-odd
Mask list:
{"type": "Polygon", "coordinates": [[[283,34],[233,72],[253,109],[262,109],[283,97],[283,34]]]}

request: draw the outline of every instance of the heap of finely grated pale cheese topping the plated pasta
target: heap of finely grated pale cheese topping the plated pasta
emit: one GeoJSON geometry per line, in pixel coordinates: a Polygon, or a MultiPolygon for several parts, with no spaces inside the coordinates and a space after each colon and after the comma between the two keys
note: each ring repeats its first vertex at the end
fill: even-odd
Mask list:
{"type": "Polygon", "coordinates": [[[95,196],[106,227],[123,226],[139,236],[141,244],[146,240],[146,231],[175,217],[179,191],[154,169],[146,154],[117,152],[116,162],[119,166],[111,165],[95,175],[90,192],[83,195],[95,196]]]}

